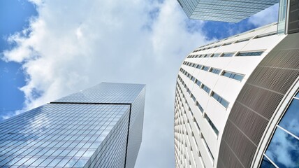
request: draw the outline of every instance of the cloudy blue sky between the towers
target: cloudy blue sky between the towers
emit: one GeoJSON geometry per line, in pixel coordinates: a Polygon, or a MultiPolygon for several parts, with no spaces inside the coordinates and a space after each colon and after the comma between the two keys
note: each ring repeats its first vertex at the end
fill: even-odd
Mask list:
{"type": "Polygon", "coordinates": [[[195,48],[277,20],[189,20],[175,0],[0,1],[0,120],[101,82],[147,86],[136,167],[175,167],[175,83],[195,48]]]}

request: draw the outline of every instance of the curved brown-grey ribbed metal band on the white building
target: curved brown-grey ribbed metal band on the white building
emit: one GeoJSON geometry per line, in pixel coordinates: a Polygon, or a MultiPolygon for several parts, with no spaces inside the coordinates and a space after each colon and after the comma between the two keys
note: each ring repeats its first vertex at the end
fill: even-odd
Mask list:
{"type": "Polygon", "coordinates": [[[228,116],[217,167],[250,167],[268,120],[299,76],[298,38],[286,36],[245,83],[228,116]]]}

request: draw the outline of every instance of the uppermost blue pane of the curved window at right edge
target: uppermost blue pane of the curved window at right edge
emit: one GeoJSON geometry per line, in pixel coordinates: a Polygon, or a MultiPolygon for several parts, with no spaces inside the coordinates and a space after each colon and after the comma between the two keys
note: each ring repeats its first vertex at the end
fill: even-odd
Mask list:
{"type": "Polygon", "coordinates": [[[284,117],[279,123],[280,126],[299,137],[299,100],[293,99],[284,117]]]}

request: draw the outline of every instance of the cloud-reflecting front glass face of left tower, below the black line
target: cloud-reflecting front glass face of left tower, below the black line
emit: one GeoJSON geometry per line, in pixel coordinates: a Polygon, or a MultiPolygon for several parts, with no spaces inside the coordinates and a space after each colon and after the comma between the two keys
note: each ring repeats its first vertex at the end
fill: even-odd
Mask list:
{"type": "Polygon", "coordinates": [[[4,120],[0,167],[82,167],[96,150],[101,151],[99,146],[113,127],[128,125],[129,109],[129,105],[46,104],[4,120]]]}

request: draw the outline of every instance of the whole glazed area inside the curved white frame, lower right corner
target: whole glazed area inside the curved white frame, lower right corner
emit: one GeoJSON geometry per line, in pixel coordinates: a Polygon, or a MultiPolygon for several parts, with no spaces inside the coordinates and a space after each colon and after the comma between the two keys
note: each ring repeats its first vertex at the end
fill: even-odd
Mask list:
{"type": "MultiPolygon", "coordinates": [[[[298,94],[297,94],[298,95],[298,94]]],[[[264,153],[261,167],[299,167],[299,98],[293,97],[264,153]]]]}

